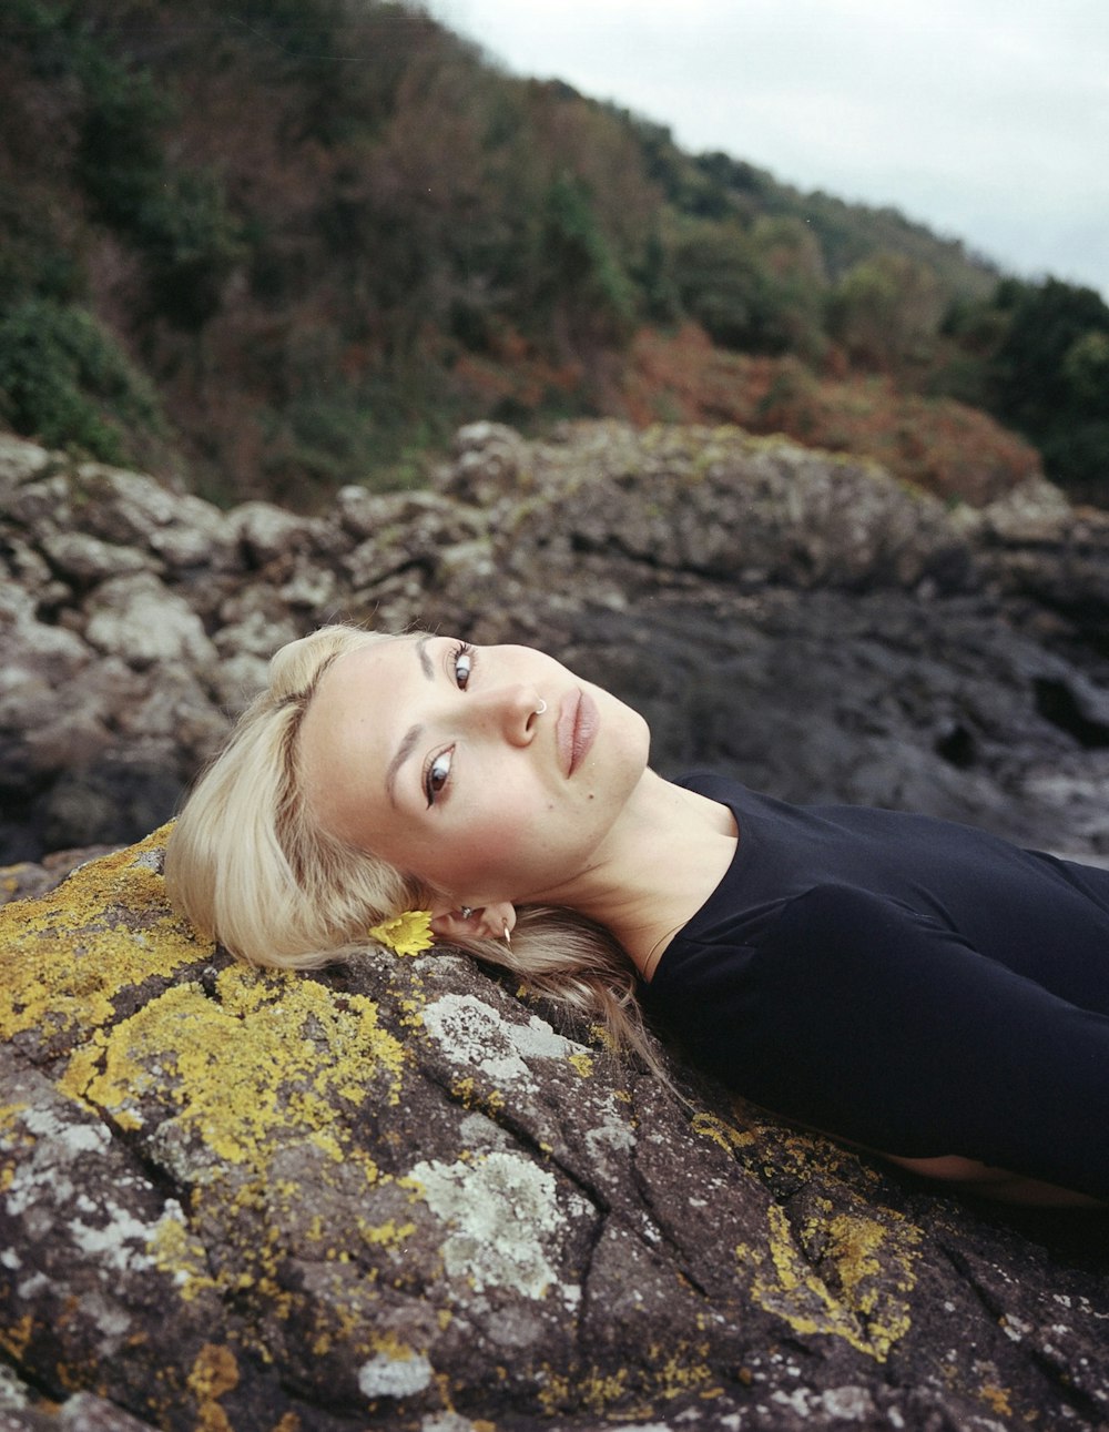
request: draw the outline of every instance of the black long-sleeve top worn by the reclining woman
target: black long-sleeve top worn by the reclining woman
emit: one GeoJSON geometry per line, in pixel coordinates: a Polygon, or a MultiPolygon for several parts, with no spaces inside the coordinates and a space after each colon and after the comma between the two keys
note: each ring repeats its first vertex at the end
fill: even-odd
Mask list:
{"type": "Polygon", "coordinates": [[[648,1015],[767,1110],[1109,1197],[1109,871],[720,776],[736,856],[648,1015]]]}

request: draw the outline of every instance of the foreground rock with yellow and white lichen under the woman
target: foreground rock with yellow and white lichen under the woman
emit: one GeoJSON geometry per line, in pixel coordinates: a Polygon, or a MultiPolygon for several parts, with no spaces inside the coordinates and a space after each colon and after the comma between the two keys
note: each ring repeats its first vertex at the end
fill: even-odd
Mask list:
{"type": "Polygon", "coordinates": [[[162,836],[0,909],[0,1428],[1093,1428],[1106,1226],[1006,1219],[449,952],[259,974],[162,836]]]}

